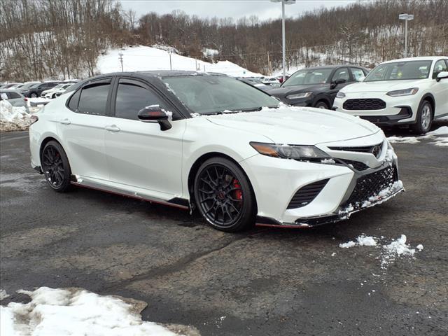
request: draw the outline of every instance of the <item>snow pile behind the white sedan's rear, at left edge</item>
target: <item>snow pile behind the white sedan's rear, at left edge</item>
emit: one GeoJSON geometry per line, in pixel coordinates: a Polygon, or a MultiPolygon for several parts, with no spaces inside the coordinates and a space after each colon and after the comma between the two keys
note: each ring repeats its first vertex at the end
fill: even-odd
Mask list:
{"type": "Polygon", "coordinates": [[[23,131],[29,125],[29,114],[24,106],[16,107],[7,100],[0,101],[0,132],[23,131]]]}

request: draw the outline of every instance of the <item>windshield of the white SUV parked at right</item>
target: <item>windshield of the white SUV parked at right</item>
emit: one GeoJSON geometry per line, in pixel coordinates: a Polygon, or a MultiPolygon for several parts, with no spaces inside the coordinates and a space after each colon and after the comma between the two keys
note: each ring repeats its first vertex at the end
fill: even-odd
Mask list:
{"type": "Polygon", "coordinates": [[[365,78],[365,82],[428,78],[432,61],[407,61],[379,64],[365,78]]]}

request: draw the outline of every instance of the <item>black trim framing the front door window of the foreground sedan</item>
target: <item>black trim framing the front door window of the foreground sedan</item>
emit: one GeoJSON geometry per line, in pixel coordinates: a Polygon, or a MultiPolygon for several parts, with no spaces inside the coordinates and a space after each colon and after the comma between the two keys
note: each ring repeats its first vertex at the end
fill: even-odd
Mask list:
{"type": "Polygon", "coordinates": [[[158,90],[158,88],[155,87],[155,85],[152,85],[147,80],[144,80],[142,78],[136,78],[131,76],[117,76],[115,79],[115,83],[113,83],[113,90],[111,94],[111,117],[118,119],[139,121],[139,120],[116,117],[116,110],[115,110],[116,100],[117,100],[118,85],[120,83],[128,83],[143,87],[146,90],[152,90],[160,98],[162,102],[164,102],[167,106],[169,106],[169,110],[173,113],[173,121],[185,119],[183,113],[181,113],[181,111],[179,111],[179,109],[176,108],[176,104],[173,104],[173,102],[165,94],[163,94],[163,92],[158,90]]]}

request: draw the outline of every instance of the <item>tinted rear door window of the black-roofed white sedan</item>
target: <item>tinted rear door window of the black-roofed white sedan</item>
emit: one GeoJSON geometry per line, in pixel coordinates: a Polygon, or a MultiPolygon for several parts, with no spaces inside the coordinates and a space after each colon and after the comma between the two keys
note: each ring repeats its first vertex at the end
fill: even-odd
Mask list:
{"type": "MultiPolygon", "coordinates": [[[[80,91],[78,113],[106,115],[107,98],[111,83],[92,83],[80,91]]],[[[73,100],[73,99],[71,99],[73,100]]],[[[71,102],[71,101],[70,101],[71,102]]],[[[69,104],[70,106],[70,104],[69,104]]]]}

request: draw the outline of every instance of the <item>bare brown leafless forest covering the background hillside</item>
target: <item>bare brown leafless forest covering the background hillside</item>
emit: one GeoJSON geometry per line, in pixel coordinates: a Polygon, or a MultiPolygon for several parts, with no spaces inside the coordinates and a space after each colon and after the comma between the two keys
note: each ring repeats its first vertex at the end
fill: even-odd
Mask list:
{"type": "MultiPolygon", "coordinates": [[[[207,59],[202,50],[211,48],[218,50],[214,61],[261,73],[281,66],[281,20],[199,18],[179,10],[158,15],[151,2],[148,8],[137,18],[109,0],[3,0],[0,79],[92,76],[102,52],[124,45],[170,45],[198,59],[207,59]]],[[[288,18],[287,64],[373,66],[402,57],[403,12],[414,14],[410,55],[448,54],[448,1],[360,1],[288,18]]]]}

